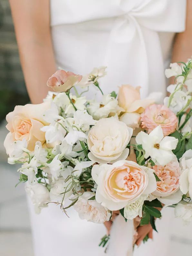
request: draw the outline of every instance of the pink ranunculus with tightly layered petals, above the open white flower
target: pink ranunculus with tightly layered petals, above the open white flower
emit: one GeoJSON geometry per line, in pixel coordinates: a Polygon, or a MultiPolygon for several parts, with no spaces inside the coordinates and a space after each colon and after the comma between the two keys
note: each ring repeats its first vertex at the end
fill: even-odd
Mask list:
{"type": "Polygon", "coordinates": [[[141,114],[141,126],[150,133],[158,125],[161,126],[164,136],[174,133],[177,128],[177,116],[166,106],[153,104],[141,114]]]}

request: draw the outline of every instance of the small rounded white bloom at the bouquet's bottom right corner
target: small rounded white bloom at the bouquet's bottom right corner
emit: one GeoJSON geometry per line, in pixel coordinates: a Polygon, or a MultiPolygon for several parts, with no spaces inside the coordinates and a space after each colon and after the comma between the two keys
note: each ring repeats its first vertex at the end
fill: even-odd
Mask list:
{"type": "Polygon", "coordinates": [[[175,207],[175,217],[181,218],[185,224],[190,224],[192,221],[192,203],[178,203],[175,207]]]}

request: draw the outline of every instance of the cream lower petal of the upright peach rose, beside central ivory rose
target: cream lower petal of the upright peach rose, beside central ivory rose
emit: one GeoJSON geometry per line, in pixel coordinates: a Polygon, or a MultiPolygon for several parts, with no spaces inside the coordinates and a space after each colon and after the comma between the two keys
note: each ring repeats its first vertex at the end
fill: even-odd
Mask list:
{"type": "Polygon", "coordinates": [[[133,129],[139,128],[140,114],[136,112],[124,113],[120,116],[119,120],[125,123],[128,127],[133,129]]]}

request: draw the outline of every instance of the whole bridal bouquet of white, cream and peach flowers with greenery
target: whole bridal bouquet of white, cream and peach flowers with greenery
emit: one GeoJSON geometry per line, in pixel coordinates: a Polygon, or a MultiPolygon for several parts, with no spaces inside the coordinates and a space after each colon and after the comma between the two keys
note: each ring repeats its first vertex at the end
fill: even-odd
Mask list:
{"type": "Polygon", "coordinates": [[[103,223],[120,210],[125,221],[139,215],[141,226],[156,230],[163,204],[191,221],[192,61],[166,70],[176,84],[164,104],[157,104],[159,94],[141,99],[130,85],[103,94],[105,69],[86,76],[58,70],[43,103],[8,113],[8,163],[21,164],[19,182],[36,212],[54,202],[66,214],[74,206],[81,219],[103,223]],[[90,86],[100,100],[84,96],[90,86]]]}

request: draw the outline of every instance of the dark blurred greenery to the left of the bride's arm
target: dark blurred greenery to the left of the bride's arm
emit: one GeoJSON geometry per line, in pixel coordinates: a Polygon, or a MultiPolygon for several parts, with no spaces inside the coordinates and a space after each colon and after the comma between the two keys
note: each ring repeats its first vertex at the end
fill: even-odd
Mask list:
{"type": "Polygon", "coordinates": [[[0,122],[15,105],[29,102],[8,0],[0,1],[0,122]]]}

